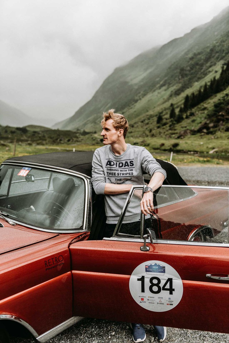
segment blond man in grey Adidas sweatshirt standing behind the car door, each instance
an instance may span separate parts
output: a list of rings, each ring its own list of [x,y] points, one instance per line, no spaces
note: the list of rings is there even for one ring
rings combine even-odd
[[[96,194],[105,194],[106,227],[104,237],[113,235],[119,215],[126,200],[126,194],[132,185],[143,185],[143,171],[151,175],[149,189],[144,193],[141,212],[150,217],[153,211],[153,191],[159,188],[166,172],[152,155],[142,146],[125,142],[128,122],[123,115],[114,113],[114,109],[103,113],[101,121],[103,147],[96,149],[92,161],[92,185]],[[125,216],[126,223],[136,223],[132,212]],[[124,222],[125,225],[125,222]],[[131,323],[134,342],[143,342],[146,333],[141,324]],[[164,341],[166,328],[154,326],[158,340]]]

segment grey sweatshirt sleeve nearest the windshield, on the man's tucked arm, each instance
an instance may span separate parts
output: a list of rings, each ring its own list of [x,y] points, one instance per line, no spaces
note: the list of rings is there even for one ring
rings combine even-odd
[[[101,164],[100,154],[96,149],[92,159],[92,186],[96,194],[104,194],[105,174]]]

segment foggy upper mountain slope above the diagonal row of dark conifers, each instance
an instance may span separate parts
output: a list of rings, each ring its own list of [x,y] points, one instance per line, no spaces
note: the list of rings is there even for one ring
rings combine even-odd
[[[92,130],[108,108],[116,108],[130,123],[152,109],[151,115],[157,115],[161,106],[206,81],[229,58],[228,35],[229,7],[209,23],[116,68],[88,103],[54,127]]]

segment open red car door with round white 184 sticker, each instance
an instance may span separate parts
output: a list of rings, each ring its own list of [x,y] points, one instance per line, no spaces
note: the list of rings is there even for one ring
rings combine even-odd
[[[122,220],[138,188],[127,197],[114,237],[70,246],[74,315],[228,333],[229,189],[195,187],[193,196],[185,197],[190,189],[183,196],[180,189],[175,199],[163,196],[151,227],[155,233],[157,224],[162,239],[156,234],[153,244],[146,241],[149,250],[142,251],[144,223],[139,237],[122,233]]]

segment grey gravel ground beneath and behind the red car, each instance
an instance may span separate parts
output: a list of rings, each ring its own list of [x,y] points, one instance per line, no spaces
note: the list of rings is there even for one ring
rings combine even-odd
[[[229,187],[229,167],[179,167],[189,184]],[[203,319],[204,320],[204,319]],[[158,342],[152,326],[145,326],[146,343]],[[13,343],[32,343],[13,340]],[[128,323],[86,318],[60,333],[48,343],[128,343],[133,342]],[[167,328],[165,343],[229,343],[229,334]]]

